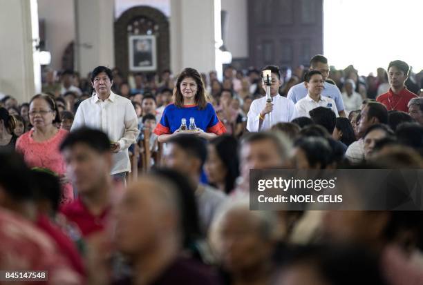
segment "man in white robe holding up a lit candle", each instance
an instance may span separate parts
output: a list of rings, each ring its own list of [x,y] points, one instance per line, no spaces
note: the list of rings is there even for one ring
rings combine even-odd
[[[272,115],[273,125],[279,122],[289,122],[298,117],[294,103],[279,95],[279,87],[282,84],[279,68],[277,66],[266,66],[263,70],[272,71],[272,85],[270,86],[272,102],[267,103],[266,97],[252,101],[247,114],[247,130],[250,132],[259,132],[272,128],[270,125],[270,114]],[[262,84],[263,88],[265,88],[263,82]]]

